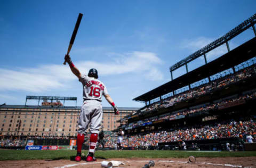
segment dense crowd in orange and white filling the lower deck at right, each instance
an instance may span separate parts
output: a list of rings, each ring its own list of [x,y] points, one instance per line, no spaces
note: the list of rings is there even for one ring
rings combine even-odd
[[[230,121],[229,123],[215,123],[212,125],[195,125],[195,127],[172,128],[164,131],[155,131],[146,134],[126,136],[123,140],[124,147],[141,147],[146,143],[157,146],[158,142],[175,142],[188,140],[204,140],[217,138],[237,137],[244,142],[256,142],[256,122]],[[111,147],[111,146],[109,146]]]

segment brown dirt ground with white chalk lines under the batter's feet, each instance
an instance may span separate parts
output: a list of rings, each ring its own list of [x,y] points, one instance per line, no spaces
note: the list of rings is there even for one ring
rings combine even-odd
[[[195,163],[188,163],[188,158],[113,158],[97,159],[95,162],[75,162],[70,160],[23,160],[23,161],[0,161],[0,167],[18,168],[18,167],[93,167],[100,168],[102,161],[121,161],[125,165],[119,165],[119,168],[138,167],[142,168],[149,161],[154,161],[154,167],[256,167],[256,157],[225,157],[225,158],[196,158]]]

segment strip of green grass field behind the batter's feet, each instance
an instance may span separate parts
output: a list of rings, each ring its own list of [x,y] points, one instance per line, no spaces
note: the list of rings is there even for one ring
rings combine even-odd
[[[87,150],[82,151],[85,155]],[[75,150],[0,150],[0,161],[6,160],[23,160],[23,159],[71,159],[74,160],[76,155]],[[108,158],[186,158],[189,156],[195,157],[246,157],[256,156],[256,152],[185,152],[173,150],[97,150],[95,157]]]

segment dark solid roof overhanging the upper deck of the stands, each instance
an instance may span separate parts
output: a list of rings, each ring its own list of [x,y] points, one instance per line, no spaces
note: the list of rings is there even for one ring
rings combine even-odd
[[[149,100],[168,94],[179,88],[188,86],[191,83],[197,82],[201,79],[210,77],[221,71],[230,69],[256,55],[256,38],[247,41],[241,46],[236,47],[232,51],[222,55],[214,61],[211,61],[193,71],[190,71],[170,82],[165,83],[147,93],[134,98],[133,100],[139,102],[148,102]]]

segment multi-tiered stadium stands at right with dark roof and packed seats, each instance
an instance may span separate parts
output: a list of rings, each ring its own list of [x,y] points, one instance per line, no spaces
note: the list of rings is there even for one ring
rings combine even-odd
[[[120,120],[124,147],[244,150],[256,142],[255,44],[254,37],[209,63],[204,52],[194,53],[204,55],[205,65],[190,72],[191,59],[174,64],[171,77],[182,65],[187,73],[134,98],[145,106]]]

